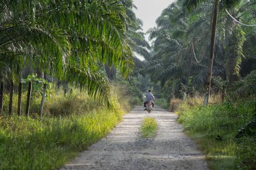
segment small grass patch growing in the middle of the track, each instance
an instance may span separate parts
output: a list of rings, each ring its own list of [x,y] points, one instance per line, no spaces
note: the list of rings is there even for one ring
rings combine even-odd
[[[140,132],[142,138],[154,138],[158,130],[158,124],[154,118],[144,118]]]

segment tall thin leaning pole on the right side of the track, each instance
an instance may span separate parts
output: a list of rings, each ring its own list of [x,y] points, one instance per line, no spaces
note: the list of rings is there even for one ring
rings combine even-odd
[[[212,80],[212,67],[214,65],[214,46],[215,46],[215,39],[216,39],[216,26],[217,26],[217,18],[218,18],[218,6],[219,1],[215,0],[214,3],[214,18],[212,21],[212,37],[211,37],[211,45],[210,45],[210,60],[209,60],[209,67],[207,73],[207,79],[205,83],[205,105],[208,104],[209,96],[210,96],[210,89],[211,89],[211,80]]]

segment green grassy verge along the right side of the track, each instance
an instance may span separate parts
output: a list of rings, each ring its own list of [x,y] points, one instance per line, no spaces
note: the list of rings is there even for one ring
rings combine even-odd
[[[236,137],[253,119],[255,101],[205,106],[195,100],[181,103],[178,122],[205,152],[210,169],[255,169],[255,136]]]

